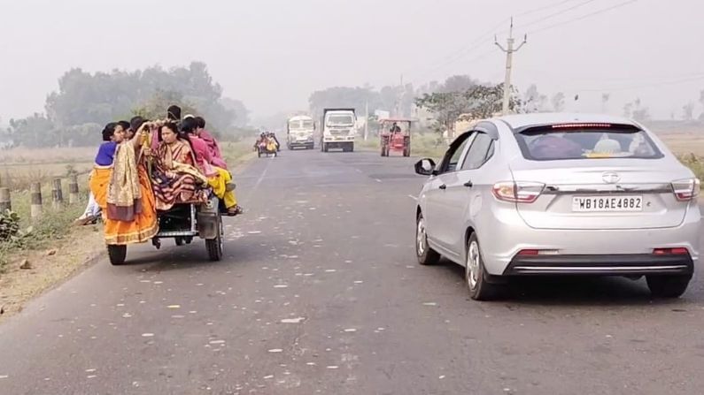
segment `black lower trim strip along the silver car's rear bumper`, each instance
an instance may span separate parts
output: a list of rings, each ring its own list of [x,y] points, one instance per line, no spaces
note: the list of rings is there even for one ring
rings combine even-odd
[[[593,275],[640,276],[647,274],[692,275],[694,262],[685,255],[532,255],[516,256],[504,276]]]

